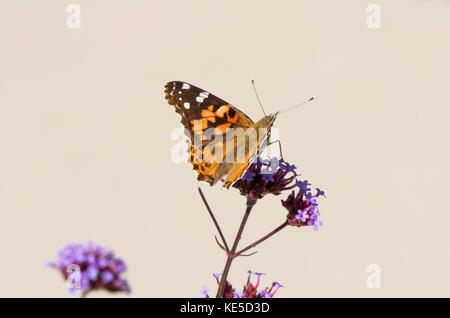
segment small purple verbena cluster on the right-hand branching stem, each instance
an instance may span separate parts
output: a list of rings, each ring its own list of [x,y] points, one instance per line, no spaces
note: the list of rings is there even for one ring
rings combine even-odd
[[[319,221],[319,205],[317,199],[325,196],[325,192],[316,188],[316,194],[311,194],[310,183],[297,181],[298,192],[295,190],[289,194],[286,200],[281,200],[281,204],[288,210],[287,221],[292,226],[312,226],[317,231],[322,221]]]

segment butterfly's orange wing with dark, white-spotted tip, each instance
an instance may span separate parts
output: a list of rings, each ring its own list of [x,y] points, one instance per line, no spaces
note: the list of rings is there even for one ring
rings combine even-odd
[[[246,130],[254,125],[253,121],[223,99],[186,82],[168,82],[165,94],[168,103],[181,115],[181,122],[187,130],[190,162],[198,174],[197,179],[213,185],[231,173],[237,175],[238,172],[233,172],[236,164],[224,162],[223,157],[227,153],[225,137],[216,140],[208,138],[205,132],[209,130],[216,135],[225,136],[229,128]],[[194,142],[197,140],[200,142]],[[223,151],[218,158],[215,153],[220,149]],[[244,171],[247,165],[242,163]],[[239,169],[241,170],[242,168]],[[228,188],[229,185],[225,187]]]

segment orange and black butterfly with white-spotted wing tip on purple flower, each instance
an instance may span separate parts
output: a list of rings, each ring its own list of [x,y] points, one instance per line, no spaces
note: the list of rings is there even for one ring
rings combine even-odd
[[[264,116],[255,123],[223,99],[179,81],[166,83],[165,98],[181,115],[189,138],[189,161],[197,172],[197,179],[210,185],[221,180],[227,189],[258,157],[263,144],[267,144],[264,142],[270,139],[270,130],[278,114]],[[230,131],[236,138],[226,138]],[[247,142],[246,136],[254,142]],[[236,154],[241,154],[242,160],[237,160]]]

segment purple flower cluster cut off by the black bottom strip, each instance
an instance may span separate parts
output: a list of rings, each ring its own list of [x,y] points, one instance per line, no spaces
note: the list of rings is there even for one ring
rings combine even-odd
[[[252,274],[254,274],[257,277],[256,283],[254,285],[251,282]],[[261,276],[263,275],[265,274],[253,273],[251,271],[248,271],[247,283],[244,285],[244,289],[240,292],[237,292],[233,288],[233,286],[231,286],[231,284],[227,282],[225,285],[224,298],[272,298],[278,291],[278,289],[283,286],[281,286],[280,283],[273,282],[271,287],[266,287],[265,289],[258,291]],[[219,278],[221,274],[214,274],[213,276],[216,279],[217,284],[219,284],[220,283]],[[201,292],[203,298],[209,298],[208,295],[209,289],[207,287],[203,287]]]

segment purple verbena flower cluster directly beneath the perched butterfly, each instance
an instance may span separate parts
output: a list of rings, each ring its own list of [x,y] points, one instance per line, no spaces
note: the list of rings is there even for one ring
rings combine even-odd
[[[266,194],[279,195],[296,186],[296,166],[283,159],[261,159],[249,165],[245,174],[233,184],[247,199],[261,199]]]

